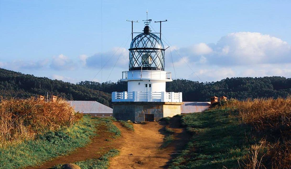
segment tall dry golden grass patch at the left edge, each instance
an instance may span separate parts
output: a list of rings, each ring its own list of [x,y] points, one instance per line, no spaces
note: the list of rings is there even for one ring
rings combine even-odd
[[[74,109],[63,99],[45,102],[37,98],[6,99],[0,103],[0,147],[34,139],[36,134],[75,121]]]

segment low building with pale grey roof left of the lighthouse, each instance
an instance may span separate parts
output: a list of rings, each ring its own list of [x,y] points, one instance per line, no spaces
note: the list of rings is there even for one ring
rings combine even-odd
[[[75,112],[90,114],[96,117],[112,116],[113,109],[96,101],[67,101]]]

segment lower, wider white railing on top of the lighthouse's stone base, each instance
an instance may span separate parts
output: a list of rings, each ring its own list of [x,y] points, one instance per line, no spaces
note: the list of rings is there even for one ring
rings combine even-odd
[[[112,92],[112,102],[182,102],[182,92]]]

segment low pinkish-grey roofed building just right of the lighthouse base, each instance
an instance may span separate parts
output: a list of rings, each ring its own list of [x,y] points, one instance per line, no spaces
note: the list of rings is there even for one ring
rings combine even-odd
[[[210,102],[183,102],[181,105],[181,114],[202,112],[211,106]]]

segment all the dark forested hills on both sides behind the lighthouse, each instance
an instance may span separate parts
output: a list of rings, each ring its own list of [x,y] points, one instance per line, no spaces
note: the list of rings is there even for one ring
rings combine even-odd
[[[72,84],[49,78],[0,69],[0,96],[28,98],[38,94],[60,95],[68,100],[96,100],[110,105],[112,91],[126,91],[127,82],[79,82]],[[217,82],[195,82],[178,79],[166,83],[167,91],[183,92],[183,101],[209,101],[211,96],[246,98],[287,97],[291,93],[291,78],[226,78]]]

